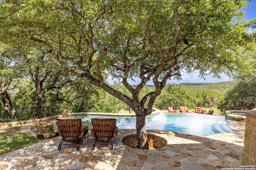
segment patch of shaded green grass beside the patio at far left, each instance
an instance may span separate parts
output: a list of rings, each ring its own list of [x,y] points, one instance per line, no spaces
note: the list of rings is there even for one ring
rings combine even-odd
[[[21,126],[10,127],[0,133],[0,155],[40,141],[34,136],[20,132]]]

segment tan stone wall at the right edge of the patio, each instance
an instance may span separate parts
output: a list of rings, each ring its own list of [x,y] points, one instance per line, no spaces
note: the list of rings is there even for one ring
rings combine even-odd
[[[256,110],[246,112],[244,165],[256,165]]]

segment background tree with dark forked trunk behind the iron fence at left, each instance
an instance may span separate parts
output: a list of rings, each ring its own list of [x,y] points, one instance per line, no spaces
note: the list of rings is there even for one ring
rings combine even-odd
[[[22,63],[24,63],[22,65],[24,68],[23,71],[27,72],[35,84],[36,111],[34,117],[40,115],[40,108],[46,102],[46,91],[56,89],[56,98],[53,100],[60,100],[58,98],[58,90],[72,81],[70,74],[64,72],[62,67],[54,59],[47,57],[49,53],[49,51],[44,49],[32,49],[22,59]]]

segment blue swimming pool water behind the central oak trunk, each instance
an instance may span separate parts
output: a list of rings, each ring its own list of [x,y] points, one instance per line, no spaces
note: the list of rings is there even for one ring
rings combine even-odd
[[[119,129],[136,129],[135,116],[76,115],[83,125],[92,127],[91,118],[116,118]],[[224,116],[203,115],[196,113],[159,113],[146,117],[146,129],[181,132],[192,135],[208,136],[216,133],[233,131]]]

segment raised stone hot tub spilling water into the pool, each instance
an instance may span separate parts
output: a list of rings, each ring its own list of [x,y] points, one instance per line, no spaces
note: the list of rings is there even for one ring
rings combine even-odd
[[[246,111],[244,110],[227,110],[225,111],[226,121],[246,121]]]

